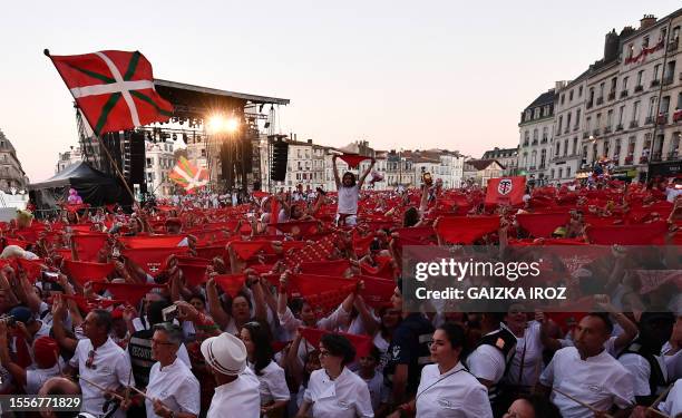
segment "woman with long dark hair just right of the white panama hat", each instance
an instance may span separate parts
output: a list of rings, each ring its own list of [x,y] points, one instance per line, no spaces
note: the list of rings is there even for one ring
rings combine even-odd
[[[249,368],[261,382],[261,414],[263,417],[279,417],[291,397],[286,387],[284,369],[272,360],[272,337],[267,325],[246,322],[241,332],[246,347]]]

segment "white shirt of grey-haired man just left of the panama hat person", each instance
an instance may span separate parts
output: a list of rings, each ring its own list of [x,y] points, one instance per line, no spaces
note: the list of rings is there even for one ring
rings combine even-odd
[[[185,362],[175,358],[173,363],[162,368],[157,361],[149,371],[147,396],[160,400],[174,412],[198,416],[201,409],[199,383]],[[157,418],[154,405],[145,400],[147,418]]]

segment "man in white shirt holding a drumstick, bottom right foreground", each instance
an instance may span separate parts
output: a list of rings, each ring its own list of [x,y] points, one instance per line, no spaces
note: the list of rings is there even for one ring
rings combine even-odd
[[[543,375],[540,389],[548,392],[564,418],[593,417],[592,409],[621,410],[616,417],[627,417],[634,405],[632,377],[604,349],[613,331],[606,314],[592,313],[581,320],[575,332],[575,347],[558,350]]]

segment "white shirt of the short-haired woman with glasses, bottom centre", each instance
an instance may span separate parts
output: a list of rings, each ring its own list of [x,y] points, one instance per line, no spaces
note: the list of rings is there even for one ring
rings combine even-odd
[[[313,418],[374,416],[367,383],[347,367],[335,380],[331,380],[324,369],[313,371],[303,400],[312,404]]]

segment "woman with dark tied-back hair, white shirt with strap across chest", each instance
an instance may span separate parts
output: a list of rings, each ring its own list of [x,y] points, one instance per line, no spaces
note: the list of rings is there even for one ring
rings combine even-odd
[[[390,415],[493,418],[488,390],[459,361],[465,342],[460,325],[446,322],[433,332],[431,360],[425,366],[417,396]]]

